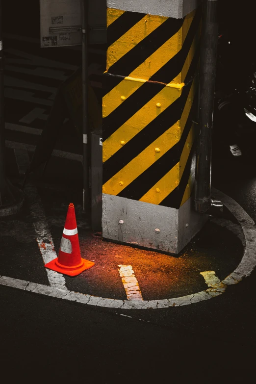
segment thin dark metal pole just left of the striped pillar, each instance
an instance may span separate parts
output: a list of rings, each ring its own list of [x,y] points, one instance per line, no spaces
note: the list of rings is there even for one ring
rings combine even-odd
[[[83,210],[89,213],[89,151],[88,151],[88,3],[81,1],[82,25],[82,131],[83,131]]]

